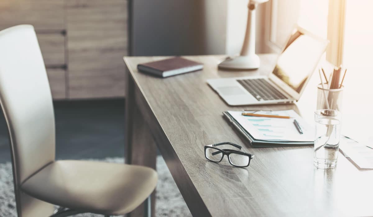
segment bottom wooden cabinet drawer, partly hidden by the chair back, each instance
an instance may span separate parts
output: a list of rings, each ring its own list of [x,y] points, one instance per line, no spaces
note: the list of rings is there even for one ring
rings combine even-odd
[[[47,68],[47,75],[53,99],[66,99],[66,70]]]

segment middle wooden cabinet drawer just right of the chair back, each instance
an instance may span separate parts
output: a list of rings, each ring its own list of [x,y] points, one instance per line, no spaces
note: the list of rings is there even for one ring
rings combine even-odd
[[[46,67],[65,66],[65,35],[38,33],[37,36]]]

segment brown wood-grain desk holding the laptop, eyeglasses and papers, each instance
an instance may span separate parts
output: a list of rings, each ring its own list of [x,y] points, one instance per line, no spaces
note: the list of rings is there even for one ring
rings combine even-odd
[[[193,216],[373,216],[373,170],[358,170],[342,154],[335,169],[317,169],[310,146],[253,148],[223,119],[228,109],[298,111],[294,104],[226,105],[207,79],[267,74],[276,57],[260,55],[260,69],[235,72],[217,69],[223,57],[189,56],[204,63],[204,70],[166,79],[137,71],[138,63],[164,57],[124,58],[127,163],[155,168],[157,144]],[[316,107],[303,105],[305,111]],[[256,157],[245,169],[232,167],[227,159],[207,161],[204,145],[222,141],[241,144]]]

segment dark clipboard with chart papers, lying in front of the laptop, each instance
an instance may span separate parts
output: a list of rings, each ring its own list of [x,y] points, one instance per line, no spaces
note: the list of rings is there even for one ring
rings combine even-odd
[[[254,147],[312,146],[314,143],[313,128],[294,110],[272,112],[273,115],[292,117],[290,119],[252,117],[241,113],[226,111],[223,115]],[[303,134],[294,126],[294,119],[300,123]]]

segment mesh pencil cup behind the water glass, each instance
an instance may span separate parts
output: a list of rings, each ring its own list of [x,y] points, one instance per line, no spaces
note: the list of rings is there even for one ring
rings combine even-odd
[[[342,95],[344,86],[339,89],[329,89],[328,84],[317,86],[317,107],[316,109],[342,110]]]

